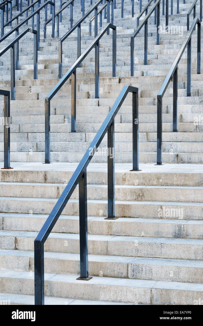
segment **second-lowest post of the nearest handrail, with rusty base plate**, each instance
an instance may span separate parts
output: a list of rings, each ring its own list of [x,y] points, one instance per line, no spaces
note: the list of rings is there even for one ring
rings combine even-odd
[[[79,181],[79,224],[80,224],[80,277],[88,281],[88,213],[87,213],[87,171]]]

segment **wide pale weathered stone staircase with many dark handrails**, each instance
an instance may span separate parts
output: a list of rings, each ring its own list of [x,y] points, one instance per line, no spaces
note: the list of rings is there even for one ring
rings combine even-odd
[[[142,171],[129,171],[132,169],[132,99],[127,96],[115,119],[115,215],[119,218],[104,220],[107,156],[98,152],[87,170],[88,259],[89,275],[93,278],[88,282],[76,280],[80,271],[77,187],[45,243],[45,304],[187,305],[202,298],[203,165],[197,163],[203,160],[203,72],[196,74],[197,31],[192,37],[192,96],[186,97],[185,53],[178,69],[179,132],[172,133],[171,83],[163,98],[165,165],[154,165],[156,96],[187,35],[186,12],[192,2],[180,4],[180,14],[169,16],[169,25],[183,26],[182,34],[161,34],[159,46],[152,14],[148,24],[148,65],[143,64],[142,29],[135,38],[135,77],[130,77],[130,36],[136,28],[139,2],[134,4],[132,18],[131,2],[126,1],[121,19],[121,2],[116,1],[117,77],[111,77],[112,36],[104,35],[100,40],[99,99],[94,98],[94,50],[81,68],[77,68],[76,133],[70,132],[71,81],[51,100],[53,163],[50,165],[42,164],[44,99],[59,81],[58,39],[51,38],[51,26],[47,26],[47,38],[43,39],[41,23],[38,80],[33,80],[33,37],[27,34],[20,40],[16,100],[11,101],[14,169],[0,170],[0,302],[34,303],[34,239],[124,85],[139,87]],[[143,1],[142,6],[146,3]],[[176,6],[174,2],[174,13]],[[85,11],[89,7],[90,1],[87,4],[85,1]],[[57,8],[59,1],[56,1]],[[75,0],[73,8],[74,22],[77,22],[82,16],[79,0]],[[81,53],[94,39],[88,36],[91,17],[82,25]],[[60,37],[70,29],[69,18],[68,9],[62,13]],[[44,22],[43,13],[40,19]],[[104,26],[106,20],[102,21]],[[160,21],[164,24],[165,16],[161,15]],[[0,43],[0,49],[8,42]],[[73,33],[63,44],[63,74],[75,62],[76,52],[77,38]],[[10,89],[9,60],[9,53],[0,57],[1,89]],[[3,116],[3,99],[0,103]],[[3,126],[0,126],[0,137],[0,161],[3,161]],[[106,147],[107,137],[100,148]]]

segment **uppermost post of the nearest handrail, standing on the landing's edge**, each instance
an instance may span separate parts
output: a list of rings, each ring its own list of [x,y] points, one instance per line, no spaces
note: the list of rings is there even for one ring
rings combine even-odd
[[[139,171],[138,93],[132,93],[132,170]]]

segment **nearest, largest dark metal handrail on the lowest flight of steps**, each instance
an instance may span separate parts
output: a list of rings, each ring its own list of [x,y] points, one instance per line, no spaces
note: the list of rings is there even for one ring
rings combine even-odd
[[[87,166],[96,153],[106,132],[108,164],[108,217],[115,217],[115,155],[114,155],[114,120],[128,93],[132,93],[132,143],[133,170],[139,170],[138,158],[138,88],[124,86],[88,150],[74,171],[70,181],[52,209],[43,227],[34,240],[34,298],[35,304],[44,304],[44,243],[60,217],[77,184],[79,184],[79,224],[80,224],[80,280],[89,280],[88,275],[88,223],[87,223]]]

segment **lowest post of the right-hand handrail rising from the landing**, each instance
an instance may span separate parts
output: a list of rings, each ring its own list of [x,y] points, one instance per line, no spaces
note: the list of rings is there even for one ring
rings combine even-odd
[[[162,165],[162,96],[157,95],[157,149],[156,164]]]

